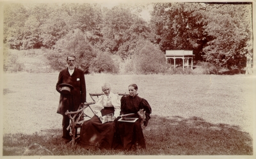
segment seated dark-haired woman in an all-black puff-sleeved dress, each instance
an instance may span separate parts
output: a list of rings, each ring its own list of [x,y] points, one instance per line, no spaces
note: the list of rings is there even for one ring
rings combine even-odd
[[[147,126],[148,120],[150,119],[151,107],[147,100],[140,98],[138,96],[138,86],[136,84],[131,84],[128,87],[129,96],[122,96],[121,98],[121,112],[120,114],[131,114],[139,118],[135,123],[129,123],[124,121],[116,122],[116,138],[115,138],[115,148],[116,149],[136,149],[136,148],[146,148],[144,135],[142,132],[142,126]],[[144,120],[141,117],[141,110],[144,112]]]

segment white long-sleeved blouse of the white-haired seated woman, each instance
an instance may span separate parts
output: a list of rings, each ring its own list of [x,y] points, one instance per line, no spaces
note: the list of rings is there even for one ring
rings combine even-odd
[[[100,117],[102,116],[100,110],[104,109],[104,107],[114,107],[115,112],[114,116],[118,117],[120,115],[120,98],[118,95],[110,92],[109,95],[102,95],[99,97],[94,106],[95,115]]]

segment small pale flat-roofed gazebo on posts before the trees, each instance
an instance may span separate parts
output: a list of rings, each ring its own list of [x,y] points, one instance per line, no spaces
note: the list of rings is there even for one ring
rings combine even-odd
[[[166,63],[168,59],[173,59],[174,61],[174,68],[176,67],[175,59],[182,59],[182,67],[184,70],[185,64],[187,64],[189,68],[189,59],[191,59],[191,69],[193,70],[193,50],[166,50],[165,59]],[[170,61],[171,63],[171,61]],[[171,63],[172,64],[172,63]]]

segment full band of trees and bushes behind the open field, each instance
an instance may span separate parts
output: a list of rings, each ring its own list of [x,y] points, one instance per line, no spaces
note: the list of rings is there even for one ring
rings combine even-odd
[[[145,10],[150,20],[140,16]],[[131,55],[128,70],[159,73],[165,50],[193,50],[195,61],[241,70],[252,67],[252,3],[7,3],[4,43],[44,49],[56,70],[73,52],[86,73],[118,72],[116,60]]]

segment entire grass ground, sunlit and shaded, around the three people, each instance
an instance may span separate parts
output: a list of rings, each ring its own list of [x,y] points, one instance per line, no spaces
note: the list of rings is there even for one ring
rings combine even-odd
[[[256,89],[250,76],[85,75],[88,93],[100,93],[102,82],[110,82],[114,93],[128,93],[127,86],[136,83],[139,96],[150,103],[152,119],[143,130],[147,149],[132,152],[63,143],[62,116],[56,114],[58,73],[3,78],[4,156],[28,155],[36,146],[47,149],[43,155],[253,155]]]

